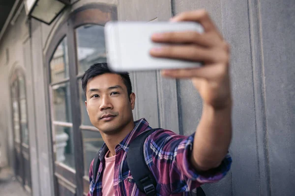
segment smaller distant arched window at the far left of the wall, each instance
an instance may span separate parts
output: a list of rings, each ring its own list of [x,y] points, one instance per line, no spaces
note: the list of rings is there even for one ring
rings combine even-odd
[[[24,188],[31,193],[29,130],[25,74],[16,68],[10,77],[12,127],[14,138],[14,172]]]

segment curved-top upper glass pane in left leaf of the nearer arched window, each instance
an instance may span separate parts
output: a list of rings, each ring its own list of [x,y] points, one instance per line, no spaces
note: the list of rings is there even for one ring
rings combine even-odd
[[[69,77],[69,62],[66,37],[60,42],[50,61],[51,83]]]

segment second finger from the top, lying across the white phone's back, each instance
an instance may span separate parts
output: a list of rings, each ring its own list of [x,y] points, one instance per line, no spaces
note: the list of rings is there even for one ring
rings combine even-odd
[[[157,43],[194,43],[204,47],[212,47],[221,42],[219,37],[213,36],[212,33],[203,34],[196,31],[155,33],[151,39]]]

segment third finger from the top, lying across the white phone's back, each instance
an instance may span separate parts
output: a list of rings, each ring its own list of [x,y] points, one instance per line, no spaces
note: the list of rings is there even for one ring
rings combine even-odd
[[[204,61],[205,63],[214,62],[215,60],[214,53],[211,50],[195,45],[153,48],[150,50],[150,55],[162,58]]]

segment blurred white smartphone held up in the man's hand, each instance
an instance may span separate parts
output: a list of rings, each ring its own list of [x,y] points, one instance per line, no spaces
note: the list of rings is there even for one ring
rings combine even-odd
[[[153,47],[166,44],[153,43],[152,34],[172,31],[202,33],[204,29],[195,22],[108,22],[105,25],[105,44],[109,68],[116,72],[129,72],[201,66],[200,62],[156,58],[149,54]]]

